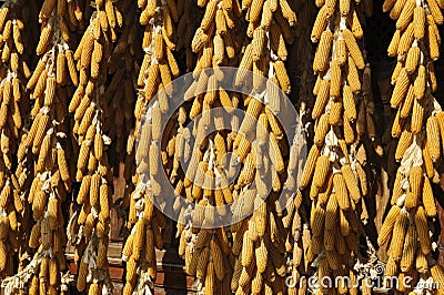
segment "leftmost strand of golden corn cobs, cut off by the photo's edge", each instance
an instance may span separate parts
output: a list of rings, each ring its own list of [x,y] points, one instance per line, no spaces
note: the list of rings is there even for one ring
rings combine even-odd
[[[23,4],[21,1],[4,1],[0,8],[0,277],[14,273],[16,255],[12,253],[19,252],[20,267],[27,263],[23,232],[28,230],[28,222],[23,213],[26,204],[19,193],[24,180],[19,180],[13,172],[29,109],[24,84],[31,75],[26,61],[24,18],[20,11]],[[30,10],[23,9],[23,12]]]

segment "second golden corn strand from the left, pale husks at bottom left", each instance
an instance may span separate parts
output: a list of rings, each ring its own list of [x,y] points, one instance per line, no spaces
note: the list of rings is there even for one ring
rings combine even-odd
[[[33,218],[32,230],[26,233],[29,235],[27,246],[36,254],[27,267],[19,269],[11,281],[3,284],[11,293],[19,289],[23,292],[29,287],[30,291],[34,291],[33,294],[57,294],[61,291],[61,272],[67,267],[62,203],[71,187],[71,173],[67,161],[71,149],[68,122],[64,121],[69,95],[65,84],[70,84],[71,80],[75,81],[77,72],[73,69],[75,78],[72,79],[67,67],[71,34],[67,24],[67,2],[46,1],[39,20],[42,23],[37,45],[40,60],[26,85],[31,91],[33,120],[18,148],[19,163],[16,170],[20,194],[22,197],[27,195],[30,203],[26,214]],[[77,22],[74,19],[73,28]],[[13,32],[16,33],[16,29]],[[20,40],[20,35],[17,40]],[[19,50],[17,48],[17,51]],[[71,62],[73,64],[72,53]],[[11,94],[20,98],[18,91],[22,87],[12,80]],[[20,281],[19,285],[16,284],[17,279]]]

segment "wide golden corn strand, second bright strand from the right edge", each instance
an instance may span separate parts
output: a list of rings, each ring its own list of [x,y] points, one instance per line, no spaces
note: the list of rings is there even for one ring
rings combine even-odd
[[[317,81],[312,118],[316,123],[300,189],[310,187],[313,201],[312,243],[306,260],[316,258],[322,293],[329,292],[321,284],[325,277],[356,279],[350,262],[359,256],[359,238],[364,234],[360,216],[366,217],[363,197],[369,187],[363,142],[374,140],[375,130],[370,68],[359,43],[364,13],[371,13],[370,2],[316,1],[321,9],[311,37],[319,42],[313,61]],[[367,285],[363,286],[363,292],[370,294]],[[354,282],[350,291],[344,284],[337,287],[340,294],[356,292]]]

